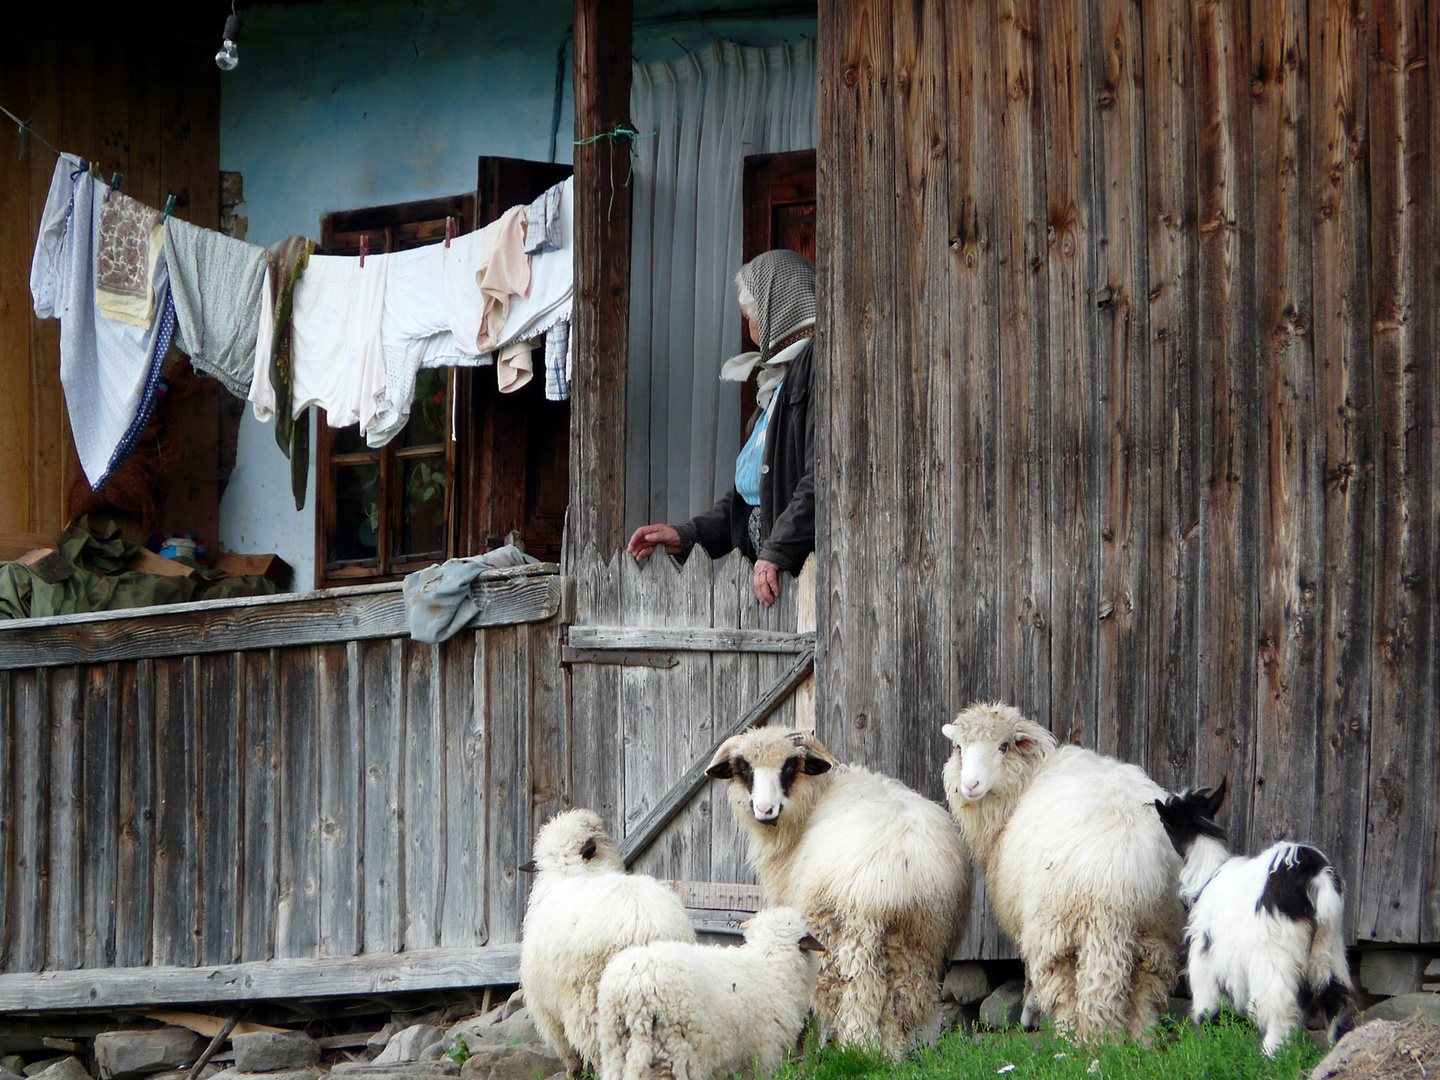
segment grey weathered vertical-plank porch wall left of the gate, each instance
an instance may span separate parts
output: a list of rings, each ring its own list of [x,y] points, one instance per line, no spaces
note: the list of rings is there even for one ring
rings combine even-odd
[[[186,655],[163,611],[84,624],[107,662],[13,667],[0,635],[0,972],[517,942],[569,798],[560,624],[423,645],[399,586],[213,606]]]

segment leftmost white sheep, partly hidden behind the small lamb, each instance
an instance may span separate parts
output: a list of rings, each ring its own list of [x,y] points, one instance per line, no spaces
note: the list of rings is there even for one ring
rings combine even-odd
[[[626,874],[589,809],[557,814],[536,835],[536,874],[520,943],[520,986],[536,1028],[570,1076],[600,1060],[595,995],[611,958],[632,945],[694,942],[680,897]]]

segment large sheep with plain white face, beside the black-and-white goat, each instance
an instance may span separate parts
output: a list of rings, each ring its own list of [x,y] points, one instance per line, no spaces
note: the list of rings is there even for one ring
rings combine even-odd
[[[1081,1038],[1142,1035],[1175,979],[1179,860],[1142,769],[1079,746],[1012,706],[973,704],[942,727],[950,812],[985,873],[999,927],[1025,960],[1025,1012]]]

